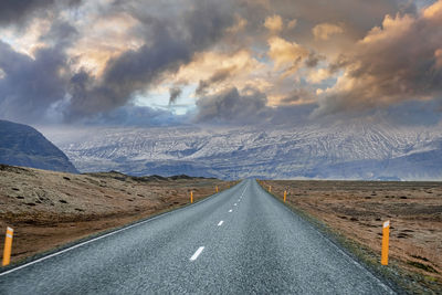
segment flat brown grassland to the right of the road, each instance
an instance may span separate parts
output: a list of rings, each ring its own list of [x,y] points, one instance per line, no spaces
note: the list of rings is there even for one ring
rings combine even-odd
[[[442,292],[442,182],[262,181],[287,204],[371,250],[379,264],[382,222],[390,220],[390,261],[413,284]],[[412,274],[420,275],[413,276]]]

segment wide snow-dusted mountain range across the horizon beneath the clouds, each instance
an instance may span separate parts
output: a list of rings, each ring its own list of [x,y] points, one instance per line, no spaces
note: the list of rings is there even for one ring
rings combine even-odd
[[[81,171],[218,178],[441,180],[442,128],[335,124],[46,130]]]

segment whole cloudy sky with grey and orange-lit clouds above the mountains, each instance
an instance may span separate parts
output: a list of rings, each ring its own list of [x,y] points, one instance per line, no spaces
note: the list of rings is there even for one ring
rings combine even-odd
[[[441,28],[442,0],[3,0],[0,118],[436,124]]]

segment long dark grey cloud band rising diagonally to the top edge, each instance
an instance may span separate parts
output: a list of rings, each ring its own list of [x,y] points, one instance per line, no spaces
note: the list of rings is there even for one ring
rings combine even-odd
[[[147,44],[112,59],[99,80],[83,77],[80,85],[74,85],[69,118],[125,105],[134,94],[148,89],[164,74],[189,63],[196,52],[213,45],[232,24],[233,17],[214,2],[197,3],[179,20],[135,14],[149,28]]]

